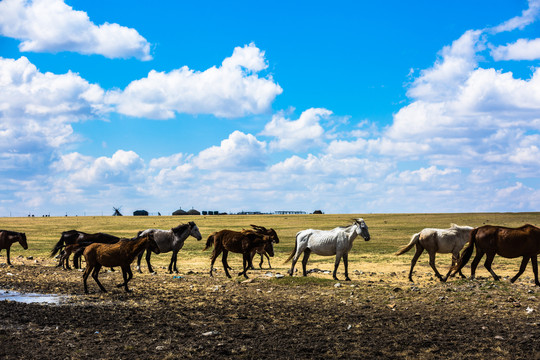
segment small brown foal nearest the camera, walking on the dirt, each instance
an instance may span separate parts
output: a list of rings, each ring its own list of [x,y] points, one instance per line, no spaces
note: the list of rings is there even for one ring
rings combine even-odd
[[[156,254],[159,254],[159,248],[154,241],[154,235],[151,233],[133,239],[120,239],[120,241],[115,244],[93,243],[88,245],[83,253],[84,258],[86,259],[86,269],[83,274],[84,292],[88,294],[86,280],[88,279],[90,272],[92,272],[92,277],[101,291],[107,292],[98,280],[99,270],[102,266],[120,266],[124,282],[116,286],[124,286],[126,292],[130,292],[127,283],[133,278],[131,263],[141,251],[146,249],[150,249]]]

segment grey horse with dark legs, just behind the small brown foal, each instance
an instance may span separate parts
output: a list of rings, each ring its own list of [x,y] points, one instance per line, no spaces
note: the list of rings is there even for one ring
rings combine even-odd
[[[181,224],[178,225],[175,228],[172,228],[171,230],[161,230],[161,229],[146,229],[144,231],[140,231],[137,236],[144,236],[148,233],[154,234],[154,241],[158,245],[159,251],[162,253],[172,251],[172,257],[171,262],[169,264],[169,273],[174,272],[178,273],[178,269],[176,268],[176,260],[178,259],[178,252],[182,247],[184,246],[184,241],[188,238],[188,236],[193,236],[197,240],[202,239],[202,235],[199,232],[199,228],[197,225],[190,221],[187,224]],[[144,252],[144,251],[143,251]],[[154,270],[152,269],[152,265],[150,265],[150,255],[152,253],[150,250],[146,250],[146,264],[148,265],[148,271],[153,273]],[[141,258],[143,256],[143,253],[141,252],[139,256],[137,257],[137,270],[142,273],[141,271]]]

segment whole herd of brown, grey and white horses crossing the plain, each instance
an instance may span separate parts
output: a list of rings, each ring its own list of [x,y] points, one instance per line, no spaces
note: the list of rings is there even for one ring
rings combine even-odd
[[[213,276],[214,262],[221,254],[225,275],[231,277],[229,273],[231,267],[227,262],[229,252],[241,253],[243,256],[243,270],[238,274],[239,276],[248,278],[247,270],[254,268],[252,260],[255,254],[261,256],[259,267],[262,268],[265,256],[270,266],[270,257],[274,256],[273,244],[279,243],[279,237],[272,228],[267,229],[257,225],[251,225],[251,227],[251,229],[242,231],[220,230],[208,236],[203,251],[213,247],[210,257],[210,276]],[[131,264],[135,258],[137,258],[136,269],[142,272],[141,259],[146,251],[148,271],[153,273],[154,270],[150,263],[151,254],[172,252],[168,270],[170,273],[177,273],[178,252],[189,236],[202,240],[199,228],[193,221],[170,230],[146,229],[139,231],[137,236],[131,239],[119,238],[101,232],[87,234],[78,230],[69,230],[62,233],[60,240],[51,251],[51,257],[59,254],[57,266],[70,269],[69,257],[71,254],[73,254],[75,268],[81,267],[81,257],[84,256],[86,261],[83,273],[85,293],[88,293],[88,276],[92,275],[100,290],[106,292],[98,278],[101,267],[105,266],[111,269],[120,267],[124,282],[117,286],[124,287],[125,291],[129,292],[128,282],[133,278]],[[304,254],[302,259],[303,276],[307,276],[306,266],[311,253],[322,256],[335,255],[333,279],[338,280],[336,273],[341,259],[343,259],[345,280],[350,281],[348,253],[353,246],[353,241],[358,236],[361,236],[365,241],[369,241],[371,238],[368,227],[362,218],[354,219],[353,223],[348,226],[332,230],[307,229],[299,231],[296,234],[295,247],[286,260],[286,262],[292,260],[291,268],[288,270],[289,275],[294,274],[294,267],[302,254]],[[24,233],[0,230],[0,250],[6,249],[8,265],[11,265],[10,248],[15,242],[19,242],[24,249],[28,248]],[[408,276],[410,281],[413,281],[414,266],[424,250],[427,250],[429,254],[429,264],[435,275],[444,282],[449,277],[455,276],[456,273],[459,273],[463,278],[465,277],[461,270],[471,258],[473,249],[476,248],[476,256],[471,264],[471,279],[474,279],[476,268],[484,255],[486,255],[484,266],[495,280],[499,280],[499,276],[491,268],[495,255],[505,258],[522,257],[519,271],[510,281],[515,282],[531,261],[535,284],[540,286],[537,259],[540,253],[540,228],[533,225],[527,224],[518,228],[484,225],[473,228],[452,224],[449,229],[426,228],[414,234],[410,242],[395,255],[402,255],[413,247],[416,247],[416,252],[411,261]],[[445,276],[442,276],[435,266],[435,254],[437,253],[452,254],[452,264]]]

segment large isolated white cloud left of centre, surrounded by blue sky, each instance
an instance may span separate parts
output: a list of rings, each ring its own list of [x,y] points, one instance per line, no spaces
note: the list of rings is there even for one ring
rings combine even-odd
[[[168,73],[152,70],[123,91],[110,92],[108,101],[122,114],[154,119],[169,119],[175,113],[225,118],[260,114],[268,111],[282,92],[271,76],[258,76],[266,67],[264,51],[250,44],[235,48],[219,68],[203,72],[187,66]]]

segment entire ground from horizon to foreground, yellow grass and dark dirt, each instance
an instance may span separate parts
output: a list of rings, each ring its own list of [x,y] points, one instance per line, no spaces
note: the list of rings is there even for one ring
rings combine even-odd
[[[350,254],[351,282],[325,272],[285,276],[283,264],[297,231],[331,229],[363,217],[371,241],[358,238]],[[180,274],[168,274],[170,254],[152,256],[157,274],[135,273],[132,293],[114,285],[119,271],[102,270],[100,293],[82,273],[55,267],[50,250],[62,231],[133,237],[146,228],[195,221],[203,235],[186,241]],[[423,255],[407,280],[413,250],[394,252],[425,227],[540,225],[539,213],[358,214],[295,216],[2,218],[0,228],[25,232],[29,249],[12,247],[14,266],[0,253],[0,358],[4,359],[540,359],[540,289],[531,267],[514,284],[519,259],[495,258],[494,282],[483,268],[477,280],[439,282]],[[220,229],[274,228],[280,243],[272,269],[227,279],[216,262],[208,275],[208,234]],[[241,256],[229,255],[235,272]],[[257,266],[258,261],[254,262]],[[333,257],[312,255],[308,270],[333,269]],[[445,272],[448,255],[438,255]],[[464,269],[469,274],[469,267]],[[234,274],[234,272],[232,272]],[[338,270],[343,279],[343,265]],[[3,301],[6,291],[57,294],[59,304]],[[8,294],[9,294],[8,293]]]

